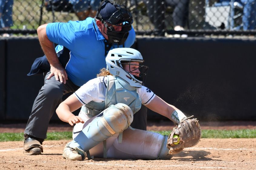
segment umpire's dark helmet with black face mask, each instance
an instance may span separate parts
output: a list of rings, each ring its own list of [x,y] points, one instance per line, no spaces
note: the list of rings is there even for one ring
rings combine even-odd
[[[107,28],[110,44],[123,45],[128,37],[133,23],[131,12],[125,5],[118,5],[113,0],[104,0],[100,3],[96,19],[100,20]],[[121,31],[116,31],[113,25],[121,26]]]

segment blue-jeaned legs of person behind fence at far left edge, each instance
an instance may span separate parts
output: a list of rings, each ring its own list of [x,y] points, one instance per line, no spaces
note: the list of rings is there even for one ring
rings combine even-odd
[[[0,29],[8,30],[13,25],[12,5],[13,0],[0,0]],[[10,35],[4,33],[2,36],[9,37]]]

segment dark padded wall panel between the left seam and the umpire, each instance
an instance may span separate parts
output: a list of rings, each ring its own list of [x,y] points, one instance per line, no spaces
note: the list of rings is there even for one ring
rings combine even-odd
[[[9,38],[6,41],[6,119],[28,120],[32,104],[43,85],[43,76],[27,76],[27,73],[43,51],[38,38]]]

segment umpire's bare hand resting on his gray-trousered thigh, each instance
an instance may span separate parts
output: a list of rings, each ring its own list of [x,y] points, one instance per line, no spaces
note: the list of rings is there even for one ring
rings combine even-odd
[[[67,75],[66,70],[62,67],[61,64],[51,65],[51,70],[50,71],[51,71],[51,73],[47,77],[47,79],[50,79],[54,75],[55,80],[66,84],[66,80],[68,79],[68,75]]]

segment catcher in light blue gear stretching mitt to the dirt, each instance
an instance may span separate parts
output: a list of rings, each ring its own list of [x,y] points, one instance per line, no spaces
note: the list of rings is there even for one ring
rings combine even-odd
[[[110,50],[107,69],[88,81],[57,108],[58,117],[73,129],[73,139],[63,151],[69,160],[170,159],[201,138],[197,119],[186,117],[143,86],[147,66],[141,53],[131,48]],[[135,114],[144,104],[152,111],[177,123],[169,136],[133,129]],[[81,107],[78,116],[73,111]]]

